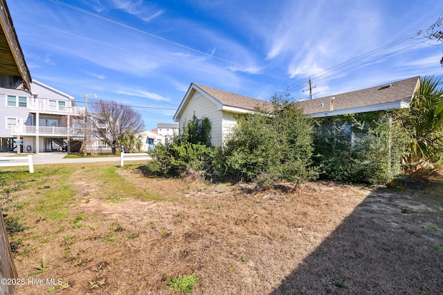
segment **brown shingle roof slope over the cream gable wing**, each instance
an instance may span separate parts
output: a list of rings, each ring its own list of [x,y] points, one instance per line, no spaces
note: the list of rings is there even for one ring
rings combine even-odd
[[[226,105],[228,107],[238,107],[240,109],[249,110],[253,110],[255,107],[271,107],[271,102],[268,101],[210,88],[201,84],[195,84],[195,86],[199,87],[201,90],[218,100],[222,105]]]

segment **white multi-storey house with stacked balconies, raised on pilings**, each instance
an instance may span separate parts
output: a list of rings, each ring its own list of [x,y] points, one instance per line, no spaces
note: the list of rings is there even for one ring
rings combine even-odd
[[[21,152],[69,150],[70,139],[82,134],[73,126],[83,108],[75,107],[72,96],[42,82],[33,80],[30,89],[0,88],[1,138],[21,143]]]

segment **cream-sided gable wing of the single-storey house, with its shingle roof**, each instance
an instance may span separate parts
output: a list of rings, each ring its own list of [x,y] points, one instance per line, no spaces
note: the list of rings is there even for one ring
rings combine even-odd
[[[193,116],[197,119],[208,118],[211,123],[211,143],[221,145],[231,127],[237,123],[237,116],[248,114],[255,107],[269,107],[269,104],[264,100],[191,83],[174,115],[174,121],[179,122],[181,129]]]

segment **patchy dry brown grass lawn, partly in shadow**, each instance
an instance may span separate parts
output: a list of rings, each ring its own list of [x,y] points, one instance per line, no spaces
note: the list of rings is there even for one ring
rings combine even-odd
[[[443,293],[442,175],[419,190],[256,192],[139,168],[0,171],[19,277],[44,280],[17,294],[171,294],[183,274],[191,294]]]

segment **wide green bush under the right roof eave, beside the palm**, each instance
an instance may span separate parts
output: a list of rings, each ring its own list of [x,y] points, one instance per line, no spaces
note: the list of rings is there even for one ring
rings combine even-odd
[[[398,175],[404,143],[401,130],[390,124],[390,115],[377,112],[353,114],[318,122],[323,131],[329,130],[328,134],[318,132],[314,141],[319,154],[316,165],[323,170],[322,177],[352,183],[386,184]],[[344,132],[346,128],[347,132]],[[354,136],[353,141],[351,136]]]

